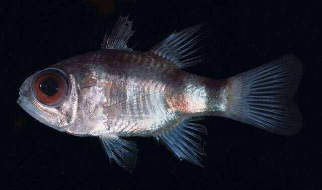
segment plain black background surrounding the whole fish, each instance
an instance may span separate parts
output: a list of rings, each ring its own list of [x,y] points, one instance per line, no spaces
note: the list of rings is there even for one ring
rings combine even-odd
[[[9,1],[0,7],[2,151],[5,189],[319,189],[321,14],[318,3],[271,1]],[[279,136],[219,117],[208,128],[200,168],[179,161],[153,138],[139,147],[130,175],[105,156],[98,138],[51,129],[16,103],[35,71],[99,49],[107,28],[129,14],[129,44],[146,51],[174,30],[206,23],[208,62],[186,71],[229,77],[287,53],[303,62],[294,101],[303,116],[296,136]],[[314,105],[314,106],[313,106]],[[319,118],[318,118],[319,117]],[[318,129],[320,130],[320,129]]]

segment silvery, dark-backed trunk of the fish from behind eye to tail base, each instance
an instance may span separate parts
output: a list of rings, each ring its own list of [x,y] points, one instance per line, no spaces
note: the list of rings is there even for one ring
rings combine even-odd
[[[154,136],[186,118],[223,114],[228,106],[226,80],[187,73],[151,53],[98,50],[52,68],[64,71],[74,98],[51,125],[73,135]]]

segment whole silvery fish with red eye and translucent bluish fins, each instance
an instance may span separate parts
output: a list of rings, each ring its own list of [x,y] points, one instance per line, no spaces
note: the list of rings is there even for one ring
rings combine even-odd
[[[132,172],[138,148],[130,136],[154,137],[180,160],[204,167],[198,120],[220,116],[280,135],[296,135],[293,102],[302,63],[292,54],[235,76],[184,71],[198,64],[202,24],[174,32],[146,52],[127,42],[132,21],[120,17],[100,50],[73,56],[29,76],[17,103],[39,122],[75,136],[99,137],[105,153]]]

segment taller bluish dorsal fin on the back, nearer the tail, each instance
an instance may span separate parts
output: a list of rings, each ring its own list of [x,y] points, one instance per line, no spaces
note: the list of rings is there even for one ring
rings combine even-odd
[[[195,56],[199,48],[194,48],[200,41],[200,34],[195,35],[203,27],[199,24],[174,32],[166,39],[152,47],[149,51],[171,60],[180,68],[189,67],[203,60],[203,55]]]

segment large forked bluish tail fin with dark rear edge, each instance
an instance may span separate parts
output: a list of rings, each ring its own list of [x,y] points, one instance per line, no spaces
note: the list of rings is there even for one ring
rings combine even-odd
[[[302,117],[292,98],[301,75],[300,60],[286,55],[229,78],[226,117],[273,133],[296,135],[302,128]]]

